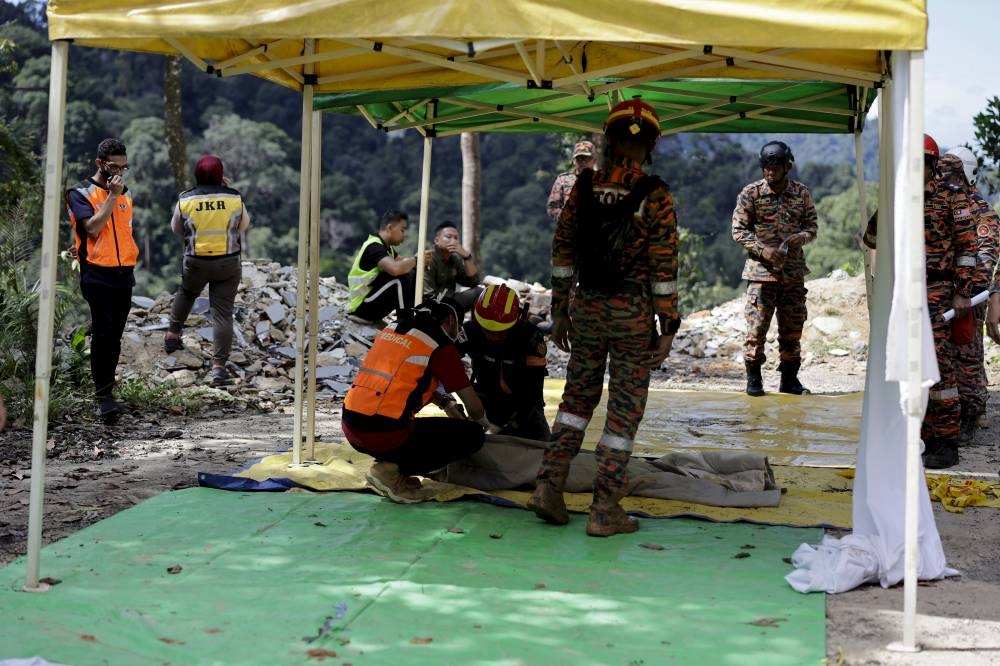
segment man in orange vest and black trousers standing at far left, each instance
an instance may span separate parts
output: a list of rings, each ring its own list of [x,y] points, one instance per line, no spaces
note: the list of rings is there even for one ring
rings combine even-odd
[[[122,412],[112,389],[132,306],[139,246],[132,235],[132,195],[125,186],[125,144],[104,139],[94,163],[97,173],[66,192],[66,208],[80,261],[80,291],[90,304],[94,396],[98,415],[111,425]]]

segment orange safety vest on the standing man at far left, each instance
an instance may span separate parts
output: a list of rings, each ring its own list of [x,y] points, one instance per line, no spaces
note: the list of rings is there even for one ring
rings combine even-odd
[[[92,180],[78,183],[76,190],[90,203],[94,215],[107,201],[109,192]],[[73,191],[70,190],[70,191]],[[118,268],[135,266],[139,259],[139,246],[132,237],[132,195],[122,192],[118,195],[115,208],[111,211],[111,219],[96,236],[91,236],[85,230],[77,229],[77,219],[69,206],[69,192],[66,193],[66,207],[69,210],[69,220],[73,225],[73,236],[76,239],[76,256],[81,266],[104,266]]]

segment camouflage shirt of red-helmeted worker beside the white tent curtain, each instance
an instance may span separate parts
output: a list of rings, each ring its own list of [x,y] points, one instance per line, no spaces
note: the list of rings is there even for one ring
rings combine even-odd
[[[976,277],[976,224],[960,188],[931,181],[924,186],[924,257],[927,280],[944,276],[960,296],[972,296]]]

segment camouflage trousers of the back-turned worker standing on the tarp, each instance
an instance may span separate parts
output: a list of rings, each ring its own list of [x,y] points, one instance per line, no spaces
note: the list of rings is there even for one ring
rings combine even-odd
[[[641,365],[654,335],[647,294],[577,292],[570,311],[572,353],[566,388],[539,480],[565,475],[601,400],[609,370],[607,420],[596,447],[595,498],[623,494],[636,430],[646,410],[650,368]]]

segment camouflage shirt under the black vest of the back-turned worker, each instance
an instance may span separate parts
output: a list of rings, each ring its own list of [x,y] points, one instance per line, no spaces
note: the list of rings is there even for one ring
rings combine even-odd
[[[593,192],[599,200],[622,199],[644,176],[639,163],[619,158],[609,170],[594,172]],[[569,309],[576,286],[577,188],[572,188],[552,239],[552,311]],[[677,309],[677,217],[670,190],[658,187],[643,201],[635,216],[635,242],[624,257],[627,279],[646,282],[653,295],[654,314],[665,320],[680,318]]]

